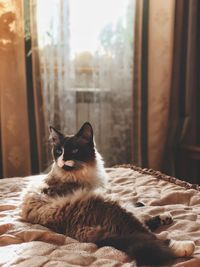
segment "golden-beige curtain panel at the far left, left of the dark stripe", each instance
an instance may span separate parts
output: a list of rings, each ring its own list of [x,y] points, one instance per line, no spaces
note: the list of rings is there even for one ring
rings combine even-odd
[[[1,176],[31,173],[23,1],[0,1]]]

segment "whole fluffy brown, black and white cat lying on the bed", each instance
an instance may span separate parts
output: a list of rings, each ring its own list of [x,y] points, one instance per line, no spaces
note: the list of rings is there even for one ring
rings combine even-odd
[[[193,253],[193,242],[159,240],[132,213],[105,197],[107,174],[89,122],[73,136],[50,127],[50,141],[52,169],[24,193],[23,220],[98,247],[113,246],[138,266],[161,266]]]

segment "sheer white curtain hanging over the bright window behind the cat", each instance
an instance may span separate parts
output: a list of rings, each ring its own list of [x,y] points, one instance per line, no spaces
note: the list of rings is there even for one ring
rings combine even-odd
[[[46,125],[71,134],[90,121],[107,165],[129,163],[135,0],[32,0],[31,10]]]

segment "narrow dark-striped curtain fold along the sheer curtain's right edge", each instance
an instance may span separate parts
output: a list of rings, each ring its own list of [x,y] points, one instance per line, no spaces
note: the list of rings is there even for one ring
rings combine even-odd
[[[133,61],[133,163],[147,166],[147,45],[148,45],[148,1],[136,1]]]

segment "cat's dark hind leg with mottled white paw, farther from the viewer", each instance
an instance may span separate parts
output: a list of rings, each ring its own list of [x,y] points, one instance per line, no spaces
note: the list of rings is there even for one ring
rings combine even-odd
[[[145,220],[145,225],[152,232],[158,229],[162,225],[170,225],[173,223],[172,215],[169,212],[162,213],[157,216],[153,216],[147,220]]]

